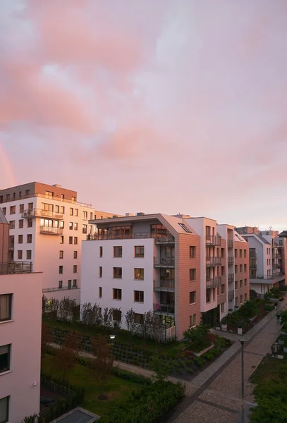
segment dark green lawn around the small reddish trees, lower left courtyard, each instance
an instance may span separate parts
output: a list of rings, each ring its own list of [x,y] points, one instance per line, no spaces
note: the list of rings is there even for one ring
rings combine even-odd
[[[53,355],[47,354],[42,358],[42,372],[56,379],[61,379],[61,374],[55,369]],[[139,391],[142,388],[140,384],[111,376],[109,381],[104,384],[104,389],[102,389],[102,384],[99,386],[97,381],[92,379],[88,367],[80,364],[77,364],[68,375],[68,381],[73,386],[85,388],[85,400],[81,407],[100,416],[104,416],[109,412],[111,404],[114,405],[125,400],[132,391]],[[107,400],[99,400],[97,398],[102,393],[108,397]]]

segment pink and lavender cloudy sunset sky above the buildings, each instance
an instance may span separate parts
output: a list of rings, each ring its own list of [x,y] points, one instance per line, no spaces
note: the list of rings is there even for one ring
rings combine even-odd
[[[1,0],[0,188],[287,229],[286,0]]]

